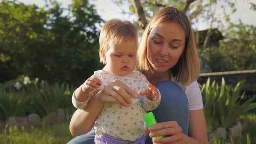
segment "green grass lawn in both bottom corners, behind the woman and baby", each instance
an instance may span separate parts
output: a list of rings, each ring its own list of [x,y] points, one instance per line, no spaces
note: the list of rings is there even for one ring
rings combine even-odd
[[[256,144],[256,114],[241,116],[248,122],[243,137],[232,140],[215,140],[212,144]],[[59,122],[41,127],[6,128],[0,131],[0,144],[66,144],[73,136],[69,132],[69,122]]]

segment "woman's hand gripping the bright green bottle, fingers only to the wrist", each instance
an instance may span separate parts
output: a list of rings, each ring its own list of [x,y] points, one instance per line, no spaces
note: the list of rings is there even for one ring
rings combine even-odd
[[[154,132],[150,132],[154,131]],[[182,140],[184,134],[182,128],[176,121],[167,121],[154,124],[144,130],[150,137],[164,136],[164,138],[155,138],[153,141],[157,144],[178,144]]]

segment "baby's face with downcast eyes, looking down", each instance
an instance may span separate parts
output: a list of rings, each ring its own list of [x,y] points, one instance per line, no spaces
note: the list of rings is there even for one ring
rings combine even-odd
[[[135,40],[113,44],[105,53],[107,68],[115,75],[128,75],[136,66],[137,45]]]

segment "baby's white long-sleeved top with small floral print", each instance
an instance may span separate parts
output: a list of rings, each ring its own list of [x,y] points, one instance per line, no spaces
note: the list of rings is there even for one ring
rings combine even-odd
[[[135,92],[146,90],[148,88],[147,84],[149,83],[147,78],[137,71],[134,71],[129,75],[118,76],[108,70],[98,70],[94,72],[92,77],[96,77],[102,81],[102,86],[98,91],[115,79],[120,80]],[[94,96],[93,94],[95,93],[91,92],[87,101],[79,102],[76,100],[74,92],[72,103],[76,108],[83,109],[86,107],[88,101]],[[135,141],[141,137],[144,134],[143,115],[147,111],[152,111],[158,107],[161,101],[161,95],[159,92],[157,101],[151,101],[146,98],[145,95],[140,95],[138,99],[139,101],[137,103],[128,108],[118,104],[105,103],[94,124],[95,133],[97,135],[105,133],[112,137],[129,141]]]

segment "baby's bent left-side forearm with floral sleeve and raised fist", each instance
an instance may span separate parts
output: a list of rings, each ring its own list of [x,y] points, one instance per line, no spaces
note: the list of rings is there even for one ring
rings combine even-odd
[[[80,85],[72,95],[72,104],[75,108],[84,109],[89,99],[96,94],[101,84],[102,82],[92,75],[92,77]]]

